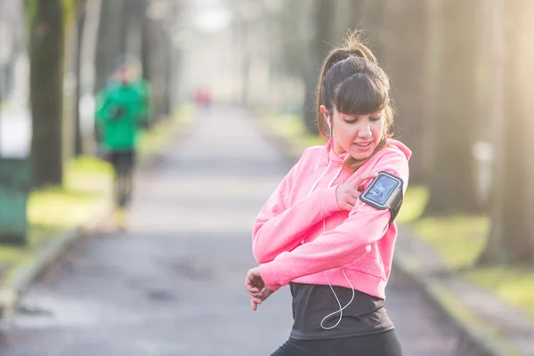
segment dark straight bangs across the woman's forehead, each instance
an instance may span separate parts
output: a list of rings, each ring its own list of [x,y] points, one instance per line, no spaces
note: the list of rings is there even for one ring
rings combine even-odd
[[[384,109],[388,101],[387,88],[360,74],[347,78],[336,93],[337,111],[345,115],[368,115]]]

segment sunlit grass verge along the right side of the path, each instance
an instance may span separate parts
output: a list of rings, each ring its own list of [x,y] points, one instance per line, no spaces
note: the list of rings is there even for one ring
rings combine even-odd
[[[264,115],[262,122],[274,134],[295,142],[298,154],[311,144],[324,142],[320,137],[306,134],[302,119],[296,115]],[[534,320],[534,268],[474,266],[486,243],[490,219],[484,215],[460,214],[424,217],[428,198],[424,186],[409,185],[397,222],[411,226],[419,239],[441,255],[450,271],[462,273],[466,279],[490,290]],[[454,306],[453,309],[458,308]]]

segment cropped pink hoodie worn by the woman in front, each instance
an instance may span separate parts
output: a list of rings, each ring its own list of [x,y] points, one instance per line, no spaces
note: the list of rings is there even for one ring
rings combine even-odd
[[[332,150],[305,150],[255,221],[253,253],[265,284],[278,290],[291,281],[328,285],[329,279],[333,286],[351,287],[345,273],[354,289],[385,299],[397,226],[388,227],[389,210],[360,199],[350,213],[341,210],[336,188],[360,174],[386,171],[401,177],[406,191],[410,156],[404,144],[390,139],[352,174]]]

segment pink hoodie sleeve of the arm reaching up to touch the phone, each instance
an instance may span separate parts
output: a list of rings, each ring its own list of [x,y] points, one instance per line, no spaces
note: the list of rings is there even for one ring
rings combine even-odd
[[[258,263],[269,263],[282,252],[293,250],[313,225],[339,211],[336,187],[315,190],[288,206],[291,189],[300,181],[302,161],[280,182],[256,218],[252,250]]]

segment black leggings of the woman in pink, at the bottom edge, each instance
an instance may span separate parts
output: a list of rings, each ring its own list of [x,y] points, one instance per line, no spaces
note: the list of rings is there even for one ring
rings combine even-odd
[[[395,330],[368,336],[353,336],[328,340],[296,340],[286,344],[271,356],[402,356]]]

